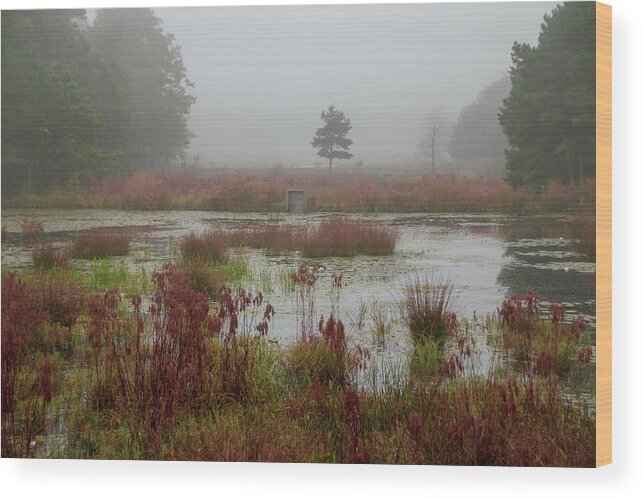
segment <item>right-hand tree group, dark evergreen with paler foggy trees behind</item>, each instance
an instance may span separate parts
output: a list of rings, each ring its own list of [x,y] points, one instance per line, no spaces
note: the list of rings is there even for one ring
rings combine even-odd
[[[432,113],[427,149],[435,152],[437,129],[451,167],[504,176],[514,186],[540,190],[595,177],[595,3],[556,6],[538,43],[514,43],[511,57],[509,77],[463,108],[452,129],[436,126]]]

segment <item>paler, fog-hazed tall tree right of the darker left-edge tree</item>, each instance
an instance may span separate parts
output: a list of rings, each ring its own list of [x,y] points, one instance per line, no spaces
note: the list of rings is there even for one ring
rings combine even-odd
[[[188,94],[181,47],[151,9],[102,9],[90,31],[93,50],[118,68],[131,104],[132,156],[138,166],[163,166],[189,145]]]

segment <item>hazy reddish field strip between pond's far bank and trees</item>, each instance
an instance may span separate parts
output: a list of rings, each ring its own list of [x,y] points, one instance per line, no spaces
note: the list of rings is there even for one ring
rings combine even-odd
[[[2,206],[278,212],[285,210],[290,189],[306,191],[308,210],[322,212],[582,212],[593,211],[596,197],[593,179],[534,190],[504,180],[413,170],[163,169],[6,195]]]

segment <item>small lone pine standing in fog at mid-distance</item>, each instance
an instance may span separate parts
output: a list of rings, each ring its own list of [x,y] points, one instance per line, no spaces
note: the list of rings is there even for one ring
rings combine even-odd
[[[351,159],[353,155],[348,148],[353,141],[346,136],[353,125],[351,120],[344,116],[344,111],[330,106],[327,111],[321,112],[321,119],[325,125],[318,128],[311,142],[317,149],[317,155],[321,158],[328,158],[328,172],[333,171],[333,158]]]

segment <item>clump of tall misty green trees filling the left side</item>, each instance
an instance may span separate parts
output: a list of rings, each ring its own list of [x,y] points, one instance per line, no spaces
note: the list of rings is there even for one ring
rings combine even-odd
[[[191,86],[151,9],[3,11],[3,193],[180,160]]]

